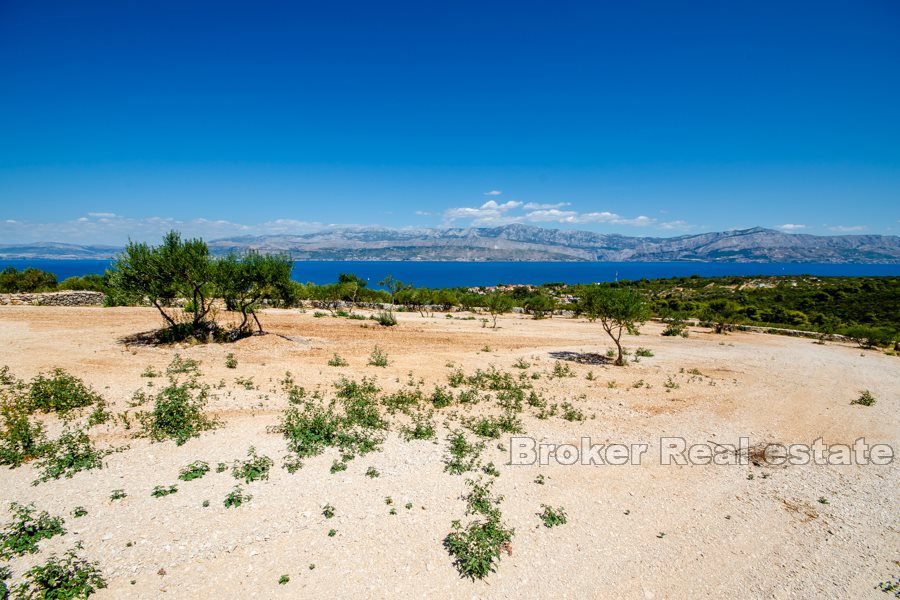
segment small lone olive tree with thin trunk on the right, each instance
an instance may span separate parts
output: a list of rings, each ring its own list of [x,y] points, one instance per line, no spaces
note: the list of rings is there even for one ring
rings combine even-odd
[[[644,298],[629,288],[591,286],[584,289],[579,304],[588,319],[600,321],[619,352],[616,364],[623,366],[622,332],[638,335],[638,327],[650,318],[650,308]]]

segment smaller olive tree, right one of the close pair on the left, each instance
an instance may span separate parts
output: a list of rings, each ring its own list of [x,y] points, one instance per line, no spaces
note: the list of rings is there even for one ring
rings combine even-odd
[[[229,254],[218,261],[216,281],[219,291],[228,309],[241,313],[240,332],[248,332],[251,316],[259,332],[263,332],[256,314],[259,301],[291,293],[292,266],[287,256],[260,254],[252,250],[240,257]]]

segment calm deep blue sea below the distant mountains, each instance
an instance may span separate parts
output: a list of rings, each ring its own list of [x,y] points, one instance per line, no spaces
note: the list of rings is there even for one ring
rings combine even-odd
[[[0,269],[35,267],[49,271],[62,281],[74,275],[103,273],[108,260],[0,260]],[[700,275],[900,275],[897,265],[832,265],[796,263],[559,263],[559,262],[386,262],[386,261],[298,261],[293,279],[316,284],[332,283],[339,273],[353,273],[377,287],[385,275],[417,287],[466,287],[500,283],[540,284],[552,281],[588,283],[615,279],[655,279]]]

